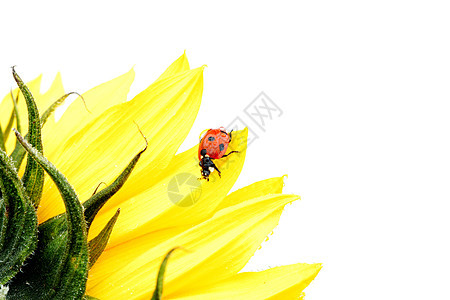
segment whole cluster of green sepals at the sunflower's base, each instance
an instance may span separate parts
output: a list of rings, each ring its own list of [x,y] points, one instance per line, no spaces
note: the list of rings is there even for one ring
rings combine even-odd
[[[0,299],[95,299],[84,295],[88,270],[105,249],[120,210],[88,242],[89,226],[100,208],[126,182],[147,145],[110,186],[81,204],[65,176],[44,157],[41,141],[41,127],[70,93],[57,99],[39,116],[30,90],[14,68],[13,76],[26,101],[29,131],[25,137],[20,133],[18,96],[11,93],[15,109],[8,126],[4,130],[0,128]],[[5,140],[14,119],[17,143],[8,155]],[[20,178],[18,169],[26,154],[25,172]],[[44,172],[58,187],[66,213],[38,225],[36,207],[42,196]],[[159,290],[153,299],[160,299],[163,273],[160,272]]]

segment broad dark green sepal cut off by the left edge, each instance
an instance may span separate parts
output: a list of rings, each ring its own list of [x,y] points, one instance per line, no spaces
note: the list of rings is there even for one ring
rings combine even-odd
[[[25,259],[37,244],[37,215],[31,205],[14,165],[0,150],[0,190],[2,193],[3,247],[0,250],[0,284],[19,272]],[[7,206],[6,206],[7,205]],[[7,207],[7,210],[6,210]],[[7,219],[7,220],[6,220]],[[4,223],[7,228],[4,230]]]

